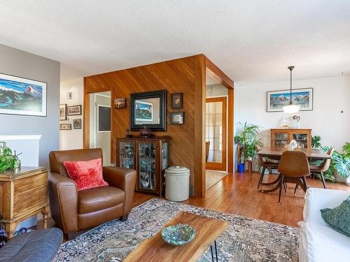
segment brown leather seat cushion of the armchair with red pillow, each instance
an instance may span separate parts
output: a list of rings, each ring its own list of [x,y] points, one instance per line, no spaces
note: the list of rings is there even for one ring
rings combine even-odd
[[[78,213],[86,214],[124,202],[125,192],[117,187],[97,187],[78,191]]]

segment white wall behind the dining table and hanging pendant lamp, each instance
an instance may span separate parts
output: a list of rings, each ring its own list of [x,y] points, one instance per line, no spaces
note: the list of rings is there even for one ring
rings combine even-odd
[[[269,145],[269,129],[280,127],[285,113],[266,112],[266,92],[288,87],[288,81],[235,85],[235,130],[238,122],[258,124],[262,142]],[[311,128],[313,136],[321,136],[323,145],[341,150],[350,142],[350,75],[293,81],[293,88],[304,87],[314,87],[314,110],[293,114],[300,116],[299,127]]]

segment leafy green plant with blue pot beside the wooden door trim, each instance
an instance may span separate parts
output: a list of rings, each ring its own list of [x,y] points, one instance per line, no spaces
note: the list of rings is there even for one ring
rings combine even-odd
[[[255,124],[244,124],[238,123],[239,129],[237,135],[235,136],[235,141],[238,143],[240,148],[240,155],[237,156],[239,161],[238,170],[239,172],[244,172],[244,163],[246,160],[253,160],[256,155],[255,146],[259,145],[262,147],[262,142],[258,140],[258,133],[260,131],[260,126]]]

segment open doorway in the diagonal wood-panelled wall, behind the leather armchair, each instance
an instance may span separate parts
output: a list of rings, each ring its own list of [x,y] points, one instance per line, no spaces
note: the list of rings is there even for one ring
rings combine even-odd
[[[90,148],[102,148],[103,165],[111,166],[111,92],[90,96]]]

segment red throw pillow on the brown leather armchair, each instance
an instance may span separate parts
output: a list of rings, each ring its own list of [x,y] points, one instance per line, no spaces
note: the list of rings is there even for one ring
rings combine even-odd
[[[100,158],[87,161],[64,161],[63,165],[69,177],[76,182],[78,191],[109,185],[102,177],[102,159]]]

